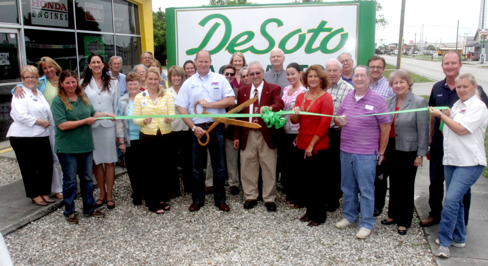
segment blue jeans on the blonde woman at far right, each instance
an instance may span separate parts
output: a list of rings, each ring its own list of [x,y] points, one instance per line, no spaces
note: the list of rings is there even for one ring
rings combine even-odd
[[[476,183],[485,166],[444,165],[446,179],[446,198],[441,212],[441,222],[437,235],[441,246],[450,246],[451,242],[465,243],[466,229],[464,221],[463,196]]]

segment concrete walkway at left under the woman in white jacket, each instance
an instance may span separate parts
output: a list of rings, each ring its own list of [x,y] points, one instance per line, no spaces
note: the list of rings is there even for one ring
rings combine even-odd
[[[10,147],[8,141],[0,143],[0,150]],[[7,151],[0,154],[0,158],[17,160],[14,151]],[[60,169],[61,170],[61,169]],[[115,166],[115,178],[123,175],[127,171],[122,167]],[[92,176],[93,184],[98,188],[95,176]],[[80,184],[78,182],[78,194],[80,193]],[[79,195],[78,195],[79,196]],[[56,202],[47,206],[38,206],[32,203],[29,198],[25,197],[25,189],[22,180],[16,180],[12,183],[0,186],[0,231],[6,235],[18,228],[35,221],[42,216],[63,207],[63,201],[57,199],[54,195],[51,198]]]

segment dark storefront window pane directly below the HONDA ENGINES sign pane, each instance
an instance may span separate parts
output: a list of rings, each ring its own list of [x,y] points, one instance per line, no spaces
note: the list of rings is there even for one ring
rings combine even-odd
[[[74,32],[26,29],[24,35],[28,64],[37,65],[37,61],[48,56],[56,61],[62,70],[76,71],[78,64]]]

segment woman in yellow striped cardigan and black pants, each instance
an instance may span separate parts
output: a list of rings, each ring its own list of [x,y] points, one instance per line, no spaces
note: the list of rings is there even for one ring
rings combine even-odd
[[[146,71],[147,90],[136,95],[132,114],[139,115],[174,115],[175,104],[171,93],[160,85],[161,73],[156,67]],[[177,173],[173,170],[174,144],[171,122],[174,118],[134,119],[141,126],[139,145],[141,169],[145,172],[141,177],[144,189],[144,201],[150,211],[162,214],[170,209],[168,182]],[[165,156],[167,155],[167,156]],[[170,165],[169,171],[161,171],[162,165]]]

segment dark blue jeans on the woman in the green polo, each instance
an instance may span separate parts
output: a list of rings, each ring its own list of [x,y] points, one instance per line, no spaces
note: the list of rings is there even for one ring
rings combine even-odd
[[[95,211],[97,204],[93,198],[92,164],[93,152],[57,153],[62,170],[62,194],[64,202],[64,216],[75,213],[75,197],[77,192],[76,174],[80,178],[81,199],[83,213]]]

